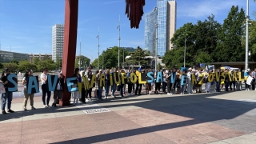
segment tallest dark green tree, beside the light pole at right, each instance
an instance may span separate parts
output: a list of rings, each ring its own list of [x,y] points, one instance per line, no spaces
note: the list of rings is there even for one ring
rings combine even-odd
[[[242,26],[246,20],[243,9],[232,6],[230,13],[218,31],[218,46],[214,52],[217,62],[243,62],[245,54],[242,47]]]

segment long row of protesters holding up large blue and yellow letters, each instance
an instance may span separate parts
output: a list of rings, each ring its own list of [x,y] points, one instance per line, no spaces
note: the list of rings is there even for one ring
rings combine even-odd
[[[93,77],[93,73],[90,70],[90,67],[88,67],[86,70],[80,71],[78,68],[74,70],[74,77],[78,82],[82,82],[82,91],[73,91],[71,93],[71,98],[74,98],[73,104],[77,105],[79,102],[86,103],[88,101],[92,100],[92,95],[94,95],[95,98],[98,98],[98,100],[103,100],[104,98],[109,97],[116,97],[115,94],[116,91],[119,91],[119,96],[124,97],[125,95],[141,95],[142,94],[142,86],[145,87],[146,94],[194,94],[194,93],[202,93],[202,83],[200,83],[200,77],[203,78],[203,83],[205,83],[205,92],[206,93],[214,93],[214,92],[220,92],[220,91],[229,91],[229,90],[242,90],[243,83],[246,85],[246,90],[255,90],[255,78],[256,78],[256,69],[254,71],[250,71],[250,69],[246,70],[246,74],[253,78],[250,84],[247,84],[245,82],[241,81],[230,81],[230,78],[228,76],[223,76],[221,74],[218,74],[220,79],[225,79],[224,81],[216,81],[214,79],[213,82],[208,81],[208,76],[210,73],[215,74],[215,72],[223,72],[225,71],[226,74],[230,73],[231,77],[233,78],[233,74],[237,74],[235,77],[239,77],[238,73],[234,73],[234,70],[194,70],[192,68],[189,68],[186,70],[175,70],[175,69],[162,69],[162,70],[152,70],[152,69],[143,69],[138,68],[138,70],[130,69],[130,70],[124,70],[124,69],[107,69],[105,71],[103,70],[97,70],[96,71],[96,79],[93,86],[90,86],[89,90],[85,90],[85,86],[83,86],[83,78],[88,78],[89,83],[91,83]],[[237,70],[239,72],[240,70]],[[118,72],[118,77],[121,79],[121,75],[126,73],[127,77],[127,83],[126,84],[116,84],[113,82],[113,85],[110,86],[110,74]],[[147,73],[153,72],[154,73],[154,82],[146,82],[146,84],[141,84],[138,81],[133,83],[131,82],[130,75],[131,73],[134,73],[137,77],[139,73]],[[162,73],[162,82],[156,81],[158,77],[158,73]],[[175,78],[173,79],[173,82],[171,82],[171,75],[175,73]],[[7,112],[14,113],[14,110],[11,110],[11,101],[13,98],[13,92],[8,91],[8,80],[7,75],[10,74],[10,69],[6,69],[2,73],[1,82],[2,85],[5,87],[5,93],[2,94],[2,114],[6,114],[6,104],[7,104]],[[104,85],[100,85],[99,82],[101,81],[101,74],[105,74],[104,79]],[[192,83],[192,74],[195,74],[196,80],[198,81],[196,84]],[[48,75],[48,69],[44,68],[42,70],[42,74],[40,75],[41,79],[41,88],[42,88],[42,104],[43,107],[48,108],[50,107],[50,96],[51,91],[48,90],[46,82],[47,82],[47,75]],[[186,75],[186,82],[182,81],[182,76]],[[203,77],[202,77],[203,75]],[[23,110],[27,110],[26,105],[28,99],[30,99],[30,106],[31,110],[36,110],[34,108],[34,94],[27,94],[26,90],[26,82],[28,82],[28,79],[30,76],[33,76],[32,70],[27,70],[26,74],[24,75],[24,78],[22,79],[22,85],[24,85],[24,102],[23,102]],[[126,86],[128,86],[128,90],[126,91]],[[58,100],[62,98],[63,93],[63,87],[64,87],[64,79],[62,73],[58,74],[58,81],[57,81],[57,89],[54,90],[54,102],[52,103],[52,106],[56,106],[58,103]],[[74,87],[76,87],[76,84],[74,84]],[[94,94],[92,94],[94,88]],[[103,93],[103,89],[105,90]],[[127,94],[126,94],[127,92]],[[47,95],[47,98],[46,98]],[[102,98],[104,97],[104,98]]]

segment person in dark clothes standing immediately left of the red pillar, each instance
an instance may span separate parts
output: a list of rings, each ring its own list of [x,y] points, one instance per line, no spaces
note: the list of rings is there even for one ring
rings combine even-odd
[[[63,74],[62,73],[58,73],[57,88],[54,91],[54,102],[53,102],[52,106],[56,107],[57,101],[62,98],[63,87],[64,87]]]

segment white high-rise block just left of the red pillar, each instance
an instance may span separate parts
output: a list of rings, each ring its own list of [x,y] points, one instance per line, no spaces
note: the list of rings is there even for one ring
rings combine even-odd
[[[64,42],[64,25],[54,25],[52,27],[52,59],[62,59],[63,42]]]

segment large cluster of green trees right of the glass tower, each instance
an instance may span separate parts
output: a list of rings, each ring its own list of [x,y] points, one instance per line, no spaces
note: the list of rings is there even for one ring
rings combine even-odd
[[[184,62],[184,47],[186,39],[186,66],[193,66],[194,62],[238,62],[244,61],[245,54],[242,46],[245,22],[244,10],[232,6],[223,25],[209,16],[204,22],[196,24],[186,23],[176,30],[171,43],[174,49],[167,51],[162,62],[166,67],[180,67]],[[255,28],[251,28],[255,30]],[[253,47],[252,33],[251,46]],[[256,51],[256,50],[255,50]],[[256,58],[256,56],[254,57]]]

